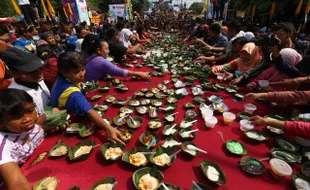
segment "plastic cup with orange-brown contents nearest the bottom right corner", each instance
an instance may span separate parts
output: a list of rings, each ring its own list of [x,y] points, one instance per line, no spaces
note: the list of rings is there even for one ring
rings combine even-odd
[[[269,161],[269,164],[271,167],[273,177],[275,177],[276,179],[281,179],[285,176],[290,176],[293,173],[291,166],[278,158],[272,158]]]

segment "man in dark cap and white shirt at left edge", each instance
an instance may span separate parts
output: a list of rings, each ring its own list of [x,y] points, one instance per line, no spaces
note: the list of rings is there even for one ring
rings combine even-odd
[[[15,47],[9,47],[1,54],[13,76],[9,88],[26,91],[34,101],[39,115],[38,124],[45,119],[44,107],[50,104],[50,91],[43,81],[42,66],[44,62],[37,56]]]

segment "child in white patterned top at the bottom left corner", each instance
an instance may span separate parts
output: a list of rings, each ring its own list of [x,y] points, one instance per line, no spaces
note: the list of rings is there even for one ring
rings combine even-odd
[[[43,141],[32,97],[23,90],[0,91],[0,175],[7,189],[31,189],[19,169]]]

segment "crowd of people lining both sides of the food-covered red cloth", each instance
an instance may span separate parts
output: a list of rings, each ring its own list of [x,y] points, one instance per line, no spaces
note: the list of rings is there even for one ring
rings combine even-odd
[[[86,22],[40,26],[0,24],[0,175],[8,189],[31,189],[18,164],[42,142],[42,129],[49,132],[44,126],[45,106],[86,116],[106,130],[111,141],[124,143],[122,134],[89,104],[80,83],[100,81],[107,75],[151,80],[146,72],[114,63],[122,64],[125,57],[145,53],[144,44],[157,40],[163,32],[173,32],[186,43],[207,48],[208,55],[196,61],[211,65],[214,74],[231,84],[246,85],[251,93],[245,99],[263,99],[307,112],[309,36],[307,28],[304,34],[296,35],[292,23],[261,30],[238,20],[215,22],[193,19],[189,14],[160,13],[132,22],[105,20],[98,26]],[[262,88],[261,80],[268,80],[269,85]],[[264,92],[256,93],[258,89]],[[310,137],[307,122],[260,116],[250,121]]]

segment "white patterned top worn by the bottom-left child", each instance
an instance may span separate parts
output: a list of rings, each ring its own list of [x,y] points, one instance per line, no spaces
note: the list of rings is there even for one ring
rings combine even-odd
[[[25,163],[43,139],[44,131],[39,125],[20,134],[0,132],[0,165],[8,162]]]

